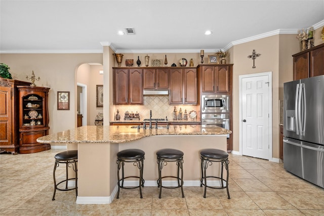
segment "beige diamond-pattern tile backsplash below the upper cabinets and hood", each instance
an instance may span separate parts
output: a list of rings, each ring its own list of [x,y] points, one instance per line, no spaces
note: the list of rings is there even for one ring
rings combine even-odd
[[[150,110],[152,110],[152,118],[166,118],[172,120],[172,113],[174,110],[174,106],[176,106],[177,111],[181,108],[182,113],[187,110],[189,114],[190,111],[194,110],[197,112],[197,117],[199,118],[200,107],[199,105],[169,105],[169,96],[166,95],[147,95],[144,96],[144,105],[114,105],[111,107],[111,111],[113,111],[113,115],[117,113],[117,110],[120,114],[120,120],[124,119],[125,112],[138,112],[140,114],[140,119],[150,117]],[[114,116],[112,116],[111,120],[115,120]]]

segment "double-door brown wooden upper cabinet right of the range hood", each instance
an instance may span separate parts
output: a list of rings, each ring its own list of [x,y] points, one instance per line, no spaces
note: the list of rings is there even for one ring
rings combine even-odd
[[[170,69],[170,104],[197,104],[197,70]]]

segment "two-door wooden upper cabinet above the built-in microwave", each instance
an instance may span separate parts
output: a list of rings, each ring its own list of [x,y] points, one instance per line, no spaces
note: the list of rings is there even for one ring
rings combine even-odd
[[[231,65],[203,65],[199,67],[201,93],[229,94],[231,92]]]

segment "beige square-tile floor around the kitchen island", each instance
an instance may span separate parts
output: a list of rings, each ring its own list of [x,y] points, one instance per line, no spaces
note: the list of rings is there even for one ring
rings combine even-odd
[[[34,154],[0,155],[0,215],[324,215],[324,189],[283,168],[282,163],[229,155],[231,199],[226,190],[200,187],[162,191],[121,190],[111,204],[75,204],[75,192],[53,196],[52,149]],[[185,165],[185,163],[184,163]],[[63,175],[63,172],[62,172]]]

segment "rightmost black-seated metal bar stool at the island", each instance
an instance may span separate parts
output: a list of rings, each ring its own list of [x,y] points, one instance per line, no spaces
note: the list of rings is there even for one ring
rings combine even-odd
[[[228,191],[228,154],[227,152],[219,149],[203,149],[200,151],[200,159],[201,159],[201,179],[200,179],[200,187],[205,186],[204,190],[204,198],[206,198],[206,189],[213,188],[213,189],[224,189],[227,190],[227,198],[230,199],[229,191]],[[214,176],[206,176],[206,169],[209,165],[212,165],[213,162],[220,162],[221,163],[221,177],[214,177]],[[226,169],[226,180],[223,178],[223,167],[225,166]],[[221,186],[208,186],[207,179],[208,178],[215,178],[221,181]],[[224,186],[224,182],[226,185]]]

